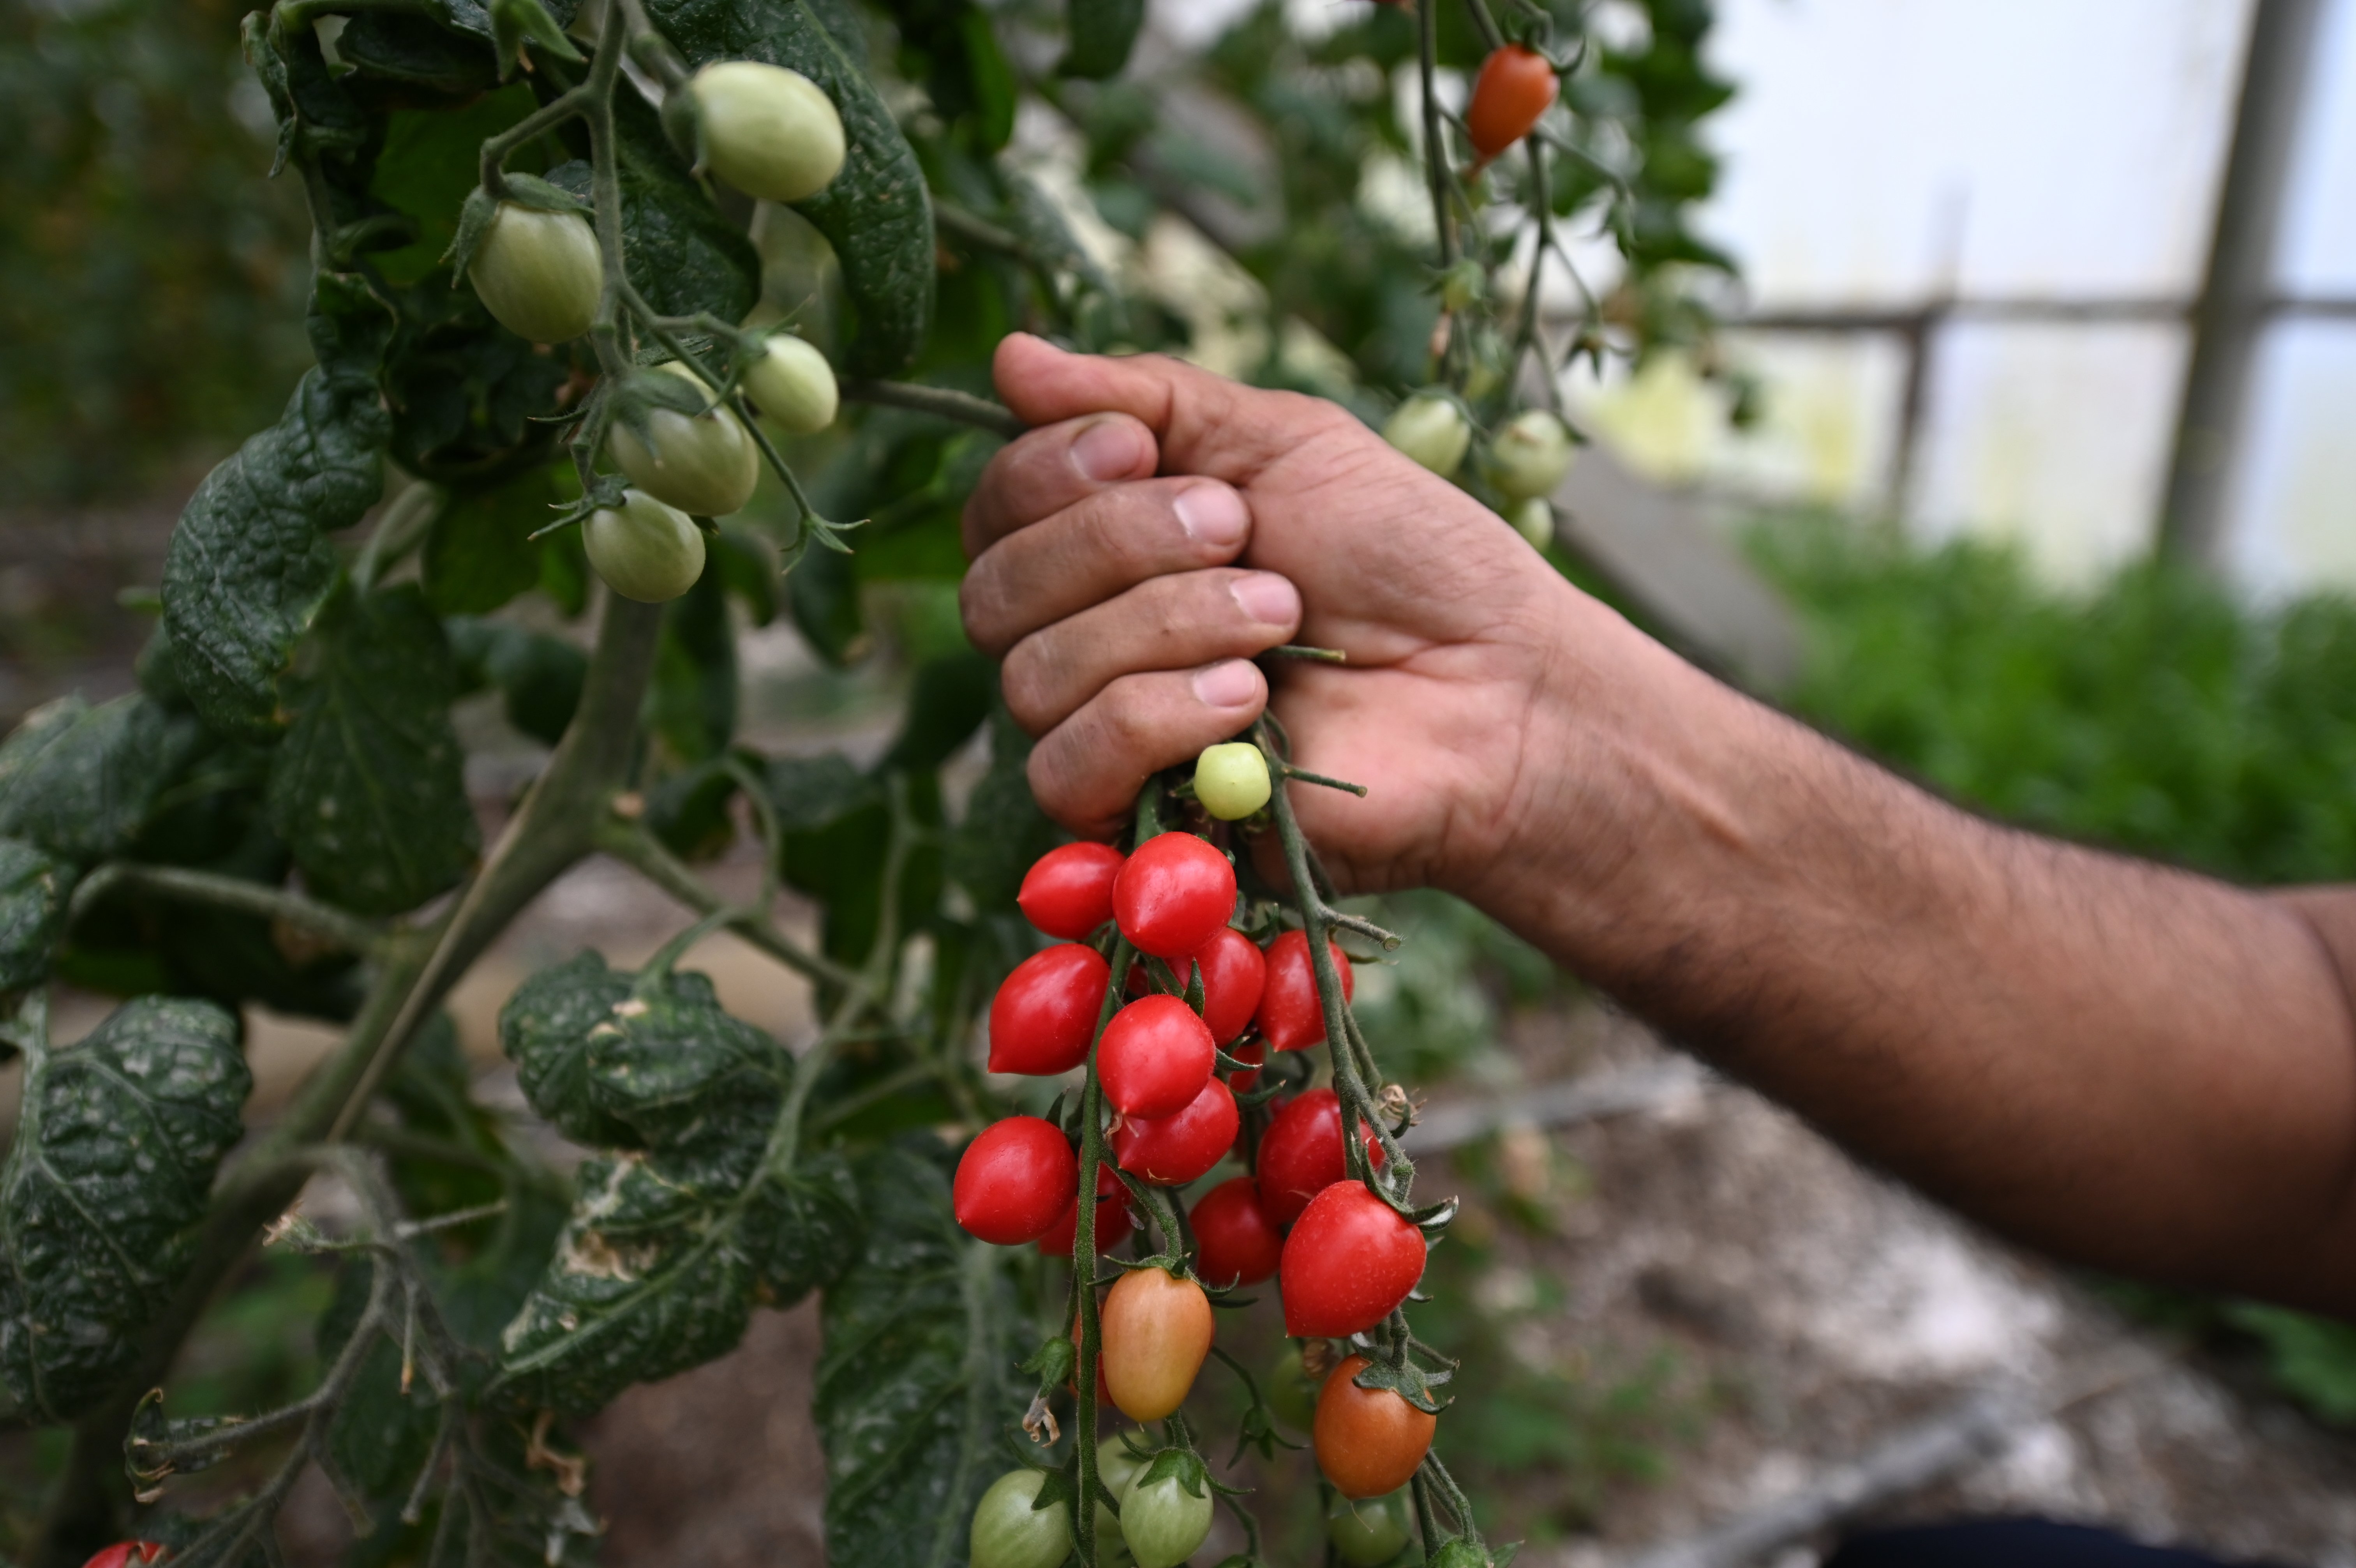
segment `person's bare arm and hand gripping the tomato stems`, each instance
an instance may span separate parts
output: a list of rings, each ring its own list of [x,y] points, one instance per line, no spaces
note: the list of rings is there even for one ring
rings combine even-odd
[[[1331,403],[1034,337],[964,611],[1110,837],[1263,705],[1345,891],[1440,887],[2059,1257],[2356,1313],[2356,889],[1974,818],[1694,670]],[[1249,663],[1284,641],[1343,667]],[[1277,865],[1270,858],[1270,870]]]

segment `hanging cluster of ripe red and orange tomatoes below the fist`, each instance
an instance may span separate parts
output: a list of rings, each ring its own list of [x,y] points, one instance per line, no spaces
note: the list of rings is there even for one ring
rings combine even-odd
[[[1025,877],[1020,905],[1034,927],[1063,941],[1027,957],[999,988],[990,1007],[990,1068],[1060,1075],[1086,1063],[1093,1047],[1114,1113],[1112,1160],[1138,1181],[1178,1188],[1206,1177],[1230,1151],[1246,1158],[1251,1174],[1220,1181],[1187,1210],[1192,1273],[1211,1287],[1279,1276],[1289,1335],[1345,1339],[1383,1323],[1416,1287],[1423,1231],[1348,1179],[1333,1089],[1277,1101],[1256,1148],[1239,1146],[1235,1089],[1253,1087],[1268,1052],[1322,1042],[1326,1023],[1308,938],[1284,931],[1256,946],[1230,924],[1235,894],[1235,868],[1192,832],[1164,832],[1129,856],[1105,844],[1048,851]],[[1131,948],[1164,960],[1180,986],[1199,981],[1202,1007],[1145,986],[1138,962],[1121,1007],[1098,1035],[1112,964],[1091,938],[1107,922]],[[1348,997],[1350,964],[1341,948],[1331,953]],[[1220,1052],[1244,1066],[1223,1075]],[[1383,1153],[1371,1129],[1362,1125],[1359,1139],[1378,1167]],[[1096,1191],[1096,1243],[1110,1250],[1136,1217],[1110,1165],[1098,1172]],[[954,1203],[959,1224],[982,1240],[1070,1254],[1079,1219],[1072,1139],[1034,1115],[992,1125],[957,1167]],[[1131,1269],[1105,1297],[1100,1323],[1105,1396],[1140,1422],[1178,1410],[1211,1346],[1202,1285],[1164,1269]],[[1364,1363],[1343,1365],[1355,1375]],[[1381,1464],[1364,1460],[1364,1441],[1338,1436],[1359,1434],[1369,1419],[1407,1438],[1378,1445]],[[1319,1396],[1315,1431],[1329,1478],[1350,1497],[1374,1497],[1414,1474],[1432,1417],[1397,1394],[1357,1389],[1336,1375]]]

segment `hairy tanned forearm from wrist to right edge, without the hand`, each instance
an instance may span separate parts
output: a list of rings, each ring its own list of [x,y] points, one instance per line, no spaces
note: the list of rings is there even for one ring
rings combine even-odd
[[[2356,1306],[2356,1037],[2311,908],[1981,823],[1642,639],[1564,667],[1531,773],[1576,783],[1480,903],[2014,1236]]]

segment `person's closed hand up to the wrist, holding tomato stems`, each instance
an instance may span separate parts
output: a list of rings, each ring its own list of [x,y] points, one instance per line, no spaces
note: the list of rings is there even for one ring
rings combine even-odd
[[[1114,832],[1270,703],[1251,655],[1308,641],[1350,663],[1282,660],[1272,705],[1301,766],[1369,788],[1293,792],[1345,889],[1465,891],[1546,818],[1567,648],[1633,632],[1494,512],[1333,403],[1178,361],[1015,335],[997,384],[1037,429],[966,505],[964,613],[1051,816]]]

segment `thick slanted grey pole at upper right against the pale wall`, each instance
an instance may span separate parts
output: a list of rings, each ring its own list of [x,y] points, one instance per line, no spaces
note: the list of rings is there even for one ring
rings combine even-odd
[[[2321,14],[2323,0],[2257,0],[2250,17],[2233,146],[2193,304],[2191,363],[2160,505],[2160,552],[2193,566],[2215,566],[2224,547],[2226,483],[2274,290],[2274,241]]]

